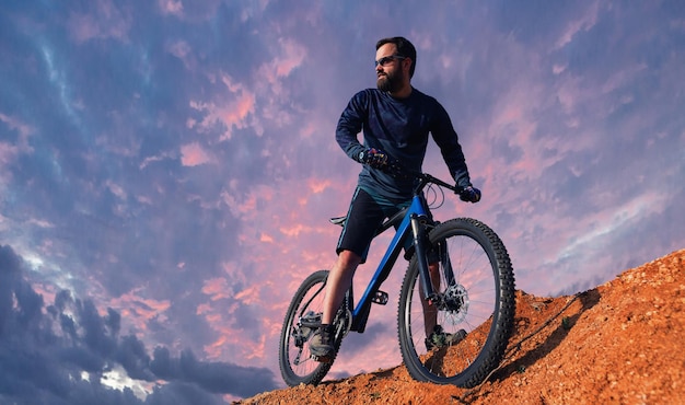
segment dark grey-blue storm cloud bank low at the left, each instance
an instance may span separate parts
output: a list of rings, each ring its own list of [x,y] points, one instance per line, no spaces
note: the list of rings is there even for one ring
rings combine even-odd
[[[198,360],[193,351],[173,357],[156,347],[150,358],[133,335],[120,336],[121,315],[100,315],[93,301],[62,290],[45,306],[25,280],[23,259],[0,245],[0,400],[10,403],[137,404],[130,389],[113,390],[100,377],[117,364],[141,382],[165,380],[146,403],[216,404],[218,394],[249,396],[276,387],[264,368]],[[88,372],[84,379],[82,372]]]

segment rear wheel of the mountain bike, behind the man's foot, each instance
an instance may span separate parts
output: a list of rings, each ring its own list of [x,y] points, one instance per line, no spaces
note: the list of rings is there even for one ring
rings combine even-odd
[[[290,386],[318,384],[333,362],[315,361],[310,354],[310,339],[321,325],[327,270],[309,276],[290,302],[280,334],[278,360],[283,381]],[[336,354],[339,343],[335,345]]]

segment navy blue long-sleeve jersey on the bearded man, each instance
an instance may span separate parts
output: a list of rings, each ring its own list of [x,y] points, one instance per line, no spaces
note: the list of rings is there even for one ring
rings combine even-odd
[[[363,130],[363,146],[357,138]],[[407,99],[394,99],[378,89],[355,94],[342,112],[336,129],[336,140],[348,157],[358,161],[367,148],[381,149],[399,160],[410,172],[420,172],[428,147],[428,134],[440,148],[456,185],[471,185],[462,147],[450,116],[433,97],[413,88]],[[411,180],[399,180],[364,165],[359,186],[386,198],[410,198]]]

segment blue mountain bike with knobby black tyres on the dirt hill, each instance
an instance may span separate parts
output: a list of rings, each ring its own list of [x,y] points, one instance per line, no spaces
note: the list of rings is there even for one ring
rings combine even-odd
[[[410,205],[385,220],[376,232],[378,235],[396,228],[361,299],[355,302],[350,288],[334,317],[333,359],[350,331],[364,332],[371,304],[388,302],[388,294],[380,288],[404,248],[409,267],[397,311],[403,361],[418,381],[473,387],[499,366],[513,328],[511,261],[502,241],[485,223],[471,218],[434,221],[425,190],[433,190],[436,196],[440,192],[442,204],[443,188],[455,194],[460,189],[430,174],[416,177]],[[344,220],[332,219],[338,224]],[[431,277],[429,266],[438,267],[439,282],[434,271]],[[288,308],[280,335],[279,366],[290,386],[318,384],[333,364],[316,361],[309,351],[309,340],[321,325],[327,276],[328,270],[310,275]],[[442,345],[429,340],[432,335],[426,331],[427,308],[432,311],[430,316],[437,312],[437,323],[444,332],[441,336],[449,337]]]

